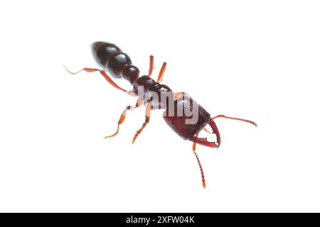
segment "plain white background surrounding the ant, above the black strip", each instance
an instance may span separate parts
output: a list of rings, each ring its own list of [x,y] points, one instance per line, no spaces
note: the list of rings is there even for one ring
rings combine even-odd
[[[1,1],[0,211],[320,211],[319,1]],[[127,52],[217,119],[191,142],[99,74],[90,43]],[[129,89],[129,83],[117,80]]]

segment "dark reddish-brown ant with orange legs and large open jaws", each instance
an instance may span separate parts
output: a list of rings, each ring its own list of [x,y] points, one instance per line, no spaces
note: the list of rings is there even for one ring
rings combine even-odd
[[[139,77],[139,69],[136,66],[132,65],[132,60],[130,59],[130,57],[126,53],[122,52],[122,50],[120,50],[117,45],[105,42],[95,42],[91,45],[91,49],[96,62],[104,70],[85,67],[78,72],[70,72],[66,67],[65,69],[70,74],[78,74],[82,71],[100,72],[100,74],[102,74],[107,82],[109,82],[114,88],[119,89],[122,92],[126,92],[129,95],[138,97],[135,106],[125,107],[117,123],[117,131],[112,135],[106,136],[105,138],[112,138],[119,133],[119,126],[124,122],[128,110],[133,111],[134,109],[137,109],[139,106],[144,104],[146,106],[145,121],[142,124],[142,127],[139,128],[139,130],[134,134],[134,137],[132,139],[132,143],[134,143],[138,135],[142,133],[146,125],[149,123],[151,110],[164,109],[164,120],[172,128],[172,130],[174,130],[184,140],[193,141],[193,153],[194,155],[196,155],[196,160],[200,167],[203,188],[206,188],[206,181],[203,174],[201,162],[196,153],[196,143],[200,145],[206,145],[210,148],[219,148],[221,144],[220,133],[213,120],[215,118],[228,118],[238,121],[245,121],[247,123],[251,123],[254,126],[257,126],[257,123],[242,118],[234,118],[225,115],[211,117],[208,111],[203,109],[202,106],[198,105],[196,101],[191,98],[191,96],[186,94],[186,92],[173,93],[168,86],[159,83],[162,81],[164,70],[166,70],[166,62],[163,63],[161,70],[159,71],[158,79],[156,79],[156,81],[152,79],[151,74],[154,70],[153,55],[150,55],[148,75]],[[114,78],[127,79],[127,81],[132,84],[133,89],[128,92],[122,87],[119,87],[119,85],[117,85],[111,79],[106,71]],[[158,99],[154,99],[154,96],[157,96]],[[161,99],[159,99],[159,96],[161,96]],[[171,104],[173,104],[171,113],[169,108],[170,102]],[[180,114],[178,114],[178,112]],[[194,121],[193,123],[187,123],[187,120],[190,120],[190,118],[193,116],[197,116],[196,121]],[[207,124],[212,129],[212,132],[208,131],[208,129],[205,128]],[[210,142],[207,140],[207,138],[198,138],[199,132],[203,129],[208,133],[214,133],[216,136],[216,141]]]

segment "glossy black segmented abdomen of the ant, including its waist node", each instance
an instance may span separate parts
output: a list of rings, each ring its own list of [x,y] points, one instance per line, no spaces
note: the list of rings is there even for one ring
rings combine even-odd
[[[97,63],[107,70],[112,77],[123,77],[131,84],[139,77],[139,70],[132,65],[130,57],[112,43],[93,43],[92,54]]]

